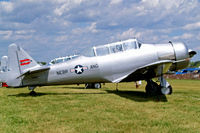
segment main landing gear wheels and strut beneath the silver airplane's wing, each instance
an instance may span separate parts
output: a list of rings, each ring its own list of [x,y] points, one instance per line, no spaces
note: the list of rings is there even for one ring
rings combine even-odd
[[[170,95],[172,94],[171,85],[163,78],[163,76],[158,78],[160,85],[154,82],[152,79],[146,80],[146,94],[147,96],[157,96],[157,95]]]

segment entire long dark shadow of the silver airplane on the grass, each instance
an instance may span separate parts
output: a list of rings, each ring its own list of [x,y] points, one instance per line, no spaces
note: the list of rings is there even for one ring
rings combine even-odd
[[[19,93],[15,95],[8,95],[8,96],[15,96],[15,97],[39,97],[39,96],[45,96],[45,95],[106,95],[106,94],[115,94],[120,97],[130,99],[136,102],[148,102],[148,101],[154,101],[154,102],[167,102],[167,98],[165,95],[159,95],[159,96],[153,96],[153,97],[147,97],[145,92],[141,91],[116,91],[116,90],[105,90],[105,92],[97,92],[97,93],[88,93],[88,92],[81,92],[81,93],[45,93],[45,92],[36,92],[35,94],[30,93]]]

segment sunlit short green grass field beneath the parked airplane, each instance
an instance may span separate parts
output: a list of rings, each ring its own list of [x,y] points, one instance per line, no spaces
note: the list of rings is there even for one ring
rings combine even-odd
[[[0,132],[200,132],[200,81],[169,80],[174,93],[146,98],[145,83],[102,89],[51,86],[0,88]]]

